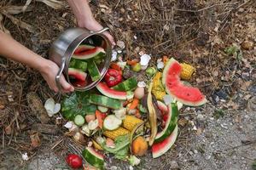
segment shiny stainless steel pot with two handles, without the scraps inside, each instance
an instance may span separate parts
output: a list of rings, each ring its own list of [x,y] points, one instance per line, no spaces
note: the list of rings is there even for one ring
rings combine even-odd
[[[111,42],[109,42],[108,37],[106,37],[102,32],[107,31],[108,28],[103,28],[101,31],[87,31],[82,28],[70,28],[67,31],[64,31],[60,37],[58,37],[55,42],[53,42],[52,47],[49,50],[49,59],[55,62],[60,67],[58,71],[55,81],[56,85],[61,91],[61,83],[60,77],[63,73],[64,77],[66,77],[67,82],[70,82],[68,77],[68,66],[70,63],[70,59],[72,58],[73,52],[76,48],[82,43],[86,43],[94,46],[102,46],[104,44],[106,59],[104,59],[103,65],[100,66],[99,71],[101,73],[101,79],[96,82],[89,82],[84,87],[74,87],[75,90],[85,91],[90,88],[94,88],[98,82],[102,80],[108,71],[108,67],[110,65],[111,57],[112,57],[112,47]]]

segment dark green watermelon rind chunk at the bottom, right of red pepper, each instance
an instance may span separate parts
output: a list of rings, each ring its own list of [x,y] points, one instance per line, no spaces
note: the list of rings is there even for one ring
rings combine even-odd
[[[104,157],[100,153],[96,152],[92,147],[86,147],[83,150],[82,155],[91,166],[99,169],[104,168]]]

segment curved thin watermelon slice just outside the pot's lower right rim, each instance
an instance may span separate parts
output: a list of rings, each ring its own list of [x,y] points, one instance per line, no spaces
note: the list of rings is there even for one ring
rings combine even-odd
[[[121,92],[121,91],[114,90],[112,88],[108,88],[108,85],[103,83],[103,82],[99,82],[97,84],[96,88],[103,95],[108,96],[109,98],[112,98],[112,99],[127,99],[127,93],[126,92]]]

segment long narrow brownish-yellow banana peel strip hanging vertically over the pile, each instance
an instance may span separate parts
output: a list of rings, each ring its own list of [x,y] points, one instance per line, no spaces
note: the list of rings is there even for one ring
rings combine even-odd
[[[150,135],[149,141],[148,141],[148,144],[150,146],[154,143],[154,138],[157,133],[157,117],[156,117],[156,113],[154,110],[152,94],[151,94],[152,87],[153,87],[153,82],[150,82],[149,87],[148,87],[148,99],[147,99],[148,117],[149,117],[150,129],[151,129],[151,135]]]

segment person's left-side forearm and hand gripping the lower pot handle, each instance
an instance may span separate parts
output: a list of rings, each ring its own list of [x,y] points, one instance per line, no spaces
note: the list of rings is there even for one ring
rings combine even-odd
[[[48,83],[49,88],[55,90],[55,92],[58,91],[55,84],[55,75],[59,67],[49,59],[44,59],[40,55],[33,53],[3,31],[0,31],[0,55],[38,70]],[[61,76],[61,86],[65,92],[73,91],[73,87],[67,83],[63,76]]]

